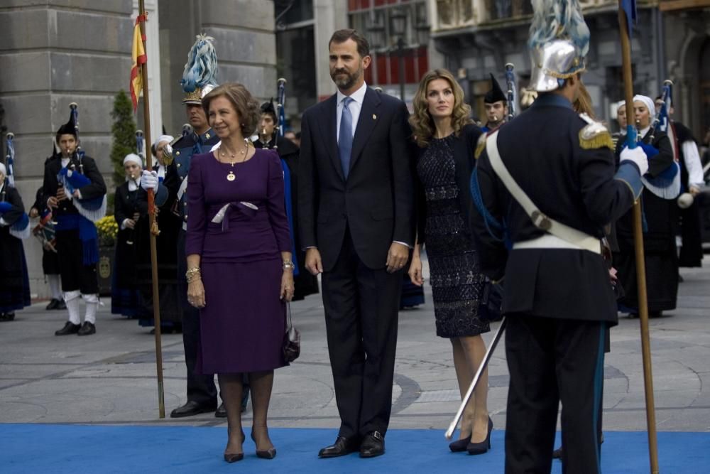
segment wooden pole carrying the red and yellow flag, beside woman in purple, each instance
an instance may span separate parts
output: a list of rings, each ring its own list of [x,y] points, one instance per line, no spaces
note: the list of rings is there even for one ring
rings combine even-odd
[[[138,0],[138,24],[141,28],[141,41],[143,51],[146,50],[146,2]],[[143,53],[145,54],[145,53]],[[148,62],[147,57],[141,63],[141,77],[143,82],[143,121],[146,143],[151,143],[151,105],[148,100]],[[146,161],[146,169],[153,171],[151,160]],[[155,364],[158,370],[158,409],[160,418],[165,418],[165,395],[163,392],[163,343],[160,334],[160,292],[158,291],[158,249],[155,237],[160,232],[158,222],[155,222],[155,194],[153,189],[148,190],[148,218],[151,222],[151,273],[153,276],[153,320],[155,321]]]

